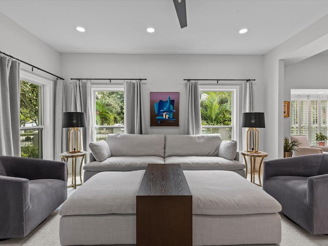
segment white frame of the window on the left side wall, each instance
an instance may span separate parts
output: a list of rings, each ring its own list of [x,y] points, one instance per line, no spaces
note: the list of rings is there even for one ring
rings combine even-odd
[[[37,127],[23,127],[23,129],[42,129],[42,156],[43,159],[52,160],[54,159],[54,81],[22,69],[20,69],[19,80],[24,80],[41,87],[41,117],[39,120],[42,125]]]

